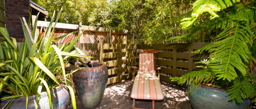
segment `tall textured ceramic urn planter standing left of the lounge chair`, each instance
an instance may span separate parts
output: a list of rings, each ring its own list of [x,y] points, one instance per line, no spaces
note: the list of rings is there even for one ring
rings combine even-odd
[[[79,67],[81,66],[77,65],[75,69]],[[84,108],[94,108],[101,103],[108,82],[108,69],[105,64],[90,64],[89,67],[74,73],[72,78]]]

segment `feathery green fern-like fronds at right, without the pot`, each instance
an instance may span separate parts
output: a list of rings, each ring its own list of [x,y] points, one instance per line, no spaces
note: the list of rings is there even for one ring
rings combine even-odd
[[[228,89],[230,100],[242,102],[244,98],[254,98],[255,76],[251,73],[251,64],[256,52],[255,47],[255,1],[237,3],[234,0],[197,0],[193,5],[191,17],[183,19],[182,28],[188,28],[187,35],[173,37],[171,40],[182,41],[192,37],[200,29],[219,30],[219,34],[208,44],[194,53],[210,53],[207,68],[193,71],[172,81],[184,84],[186,80],[198,86],[212,84]],[[202,15],[206,12],[209,15]],[[192,27],[197,18],[207,16],[201,24]],[[185,21],[186,20],[186,21]],[[254,56],[254,57],[253,57]],[[212,78],[209,78],[212,77]],[[181,79],[181,80],[180,80]],[[255,100],[254,100],[255,101]]]

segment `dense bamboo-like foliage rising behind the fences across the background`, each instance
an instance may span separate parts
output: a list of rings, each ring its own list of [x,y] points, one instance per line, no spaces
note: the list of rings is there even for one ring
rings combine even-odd
[[[180,19],[189,17],[193,0],[33,0],[49,15],[63,6],[61,23],[126,29],[131,42],[170,43],[170,37],[184,35]],[[183,13],[186,13],[181,15]],[[181,16],[180,16],[181,15]],[[51,16],[48,17],[48,21]],[[170,20],[169,20],[170,19]],[[203,37],[203,36],[202,36]],[[198,39],[196,39],[198,40]],[[203,41],[203,40],[201,40]],[[189,42],[187,40],[186,42]]]

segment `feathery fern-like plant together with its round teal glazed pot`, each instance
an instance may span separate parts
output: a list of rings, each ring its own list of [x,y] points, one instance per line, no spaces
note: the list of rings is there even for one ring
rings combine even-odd
[[[181,23],[190,33],[170,39],[188,39],[202,29],[221,31],[213,43],[193,52],[210,53],[209,60],[202,61],[205,69],[170,78],[178,84],[187,83],[189,102],[194,109],[250,108],[248,99],[256,96],[256,76],[252,74],[256,53],[249,49],[255,48],[255,5],[255,0],[197,0],[191,17]],[[206,17],[201,24],[199,16]]]

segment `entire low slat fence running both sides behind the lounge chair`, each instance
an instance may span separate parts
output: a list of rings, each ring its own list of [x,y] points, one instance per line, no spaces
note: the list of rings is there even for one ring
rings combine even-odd
[[[75,44],[82,51],[97,51],[89,54],[108,67],[108,84],[120,82],[132,77],[131,66],[137,66],[139,56],[137,49],[158,49],[156,66],[161,67],[160,80],[171,82],[169,77],[182,76],[193,70],[200,70],[196,61],[207,59],[207,54],[191,53],[209,43],[177,43],[177,44],[103,44],[99,40],[95,44]]]

